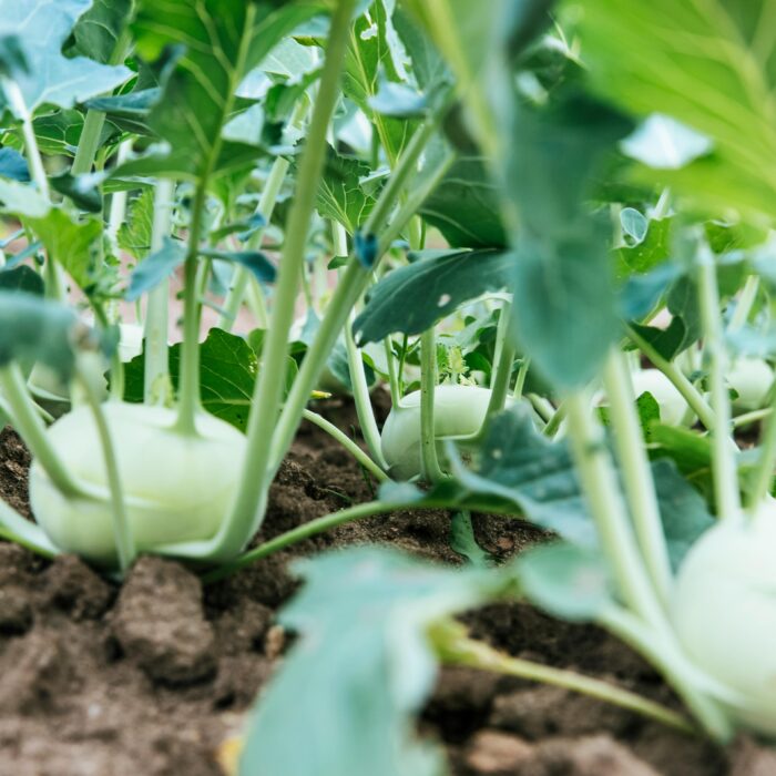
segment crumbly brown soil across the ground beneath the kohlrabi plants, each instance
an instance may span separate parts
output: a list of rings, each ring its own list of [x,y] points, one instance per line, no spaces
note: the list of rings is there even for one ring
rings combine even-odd
[[[326,411],[350,427],[348,407]],[[2,432],[0,494],[21,511],[28,464],[16,436]],[[347,453],[304,427],[273,486],[261,539],[367,500],[370,489]],[[540,538],[514,520],[476,515],[474,524],[497,558]],[[462,562],[442,512],[345,525],[204,591],[166,560],[140,560],[118,586],[73,557],[47,563],[0,544],[0,776],[218,776],[215,753],[239,731],[287,643],[273,619],[295,589],[288,561],[364,542]],[[466,620],[511,654],[674,703],[654,671],[596,629],[519,604]],[[776,774],[776,754],[752,742],[723,752],[585,697],[469,670],[442,671],[421,726],[445,742],[457,776]]]

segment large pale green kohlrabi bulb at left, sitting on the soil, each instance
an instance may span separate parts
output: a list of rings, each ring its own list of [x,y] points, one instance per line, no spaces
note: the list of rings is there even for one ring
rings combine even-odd
[[[204,412],[196,418],[198,435],[192,437],[174,430],[176,413],[171,409],[109,401],[103,411],[137,550],[213,537],[239,487],[245,436]],[[63,496],[33,461],[30,503],[35,520],[62,550],[98,564],[114,564],[110,491],[90,408],[76,408],[47,433],[72,473],[103,491],[104,498]]]

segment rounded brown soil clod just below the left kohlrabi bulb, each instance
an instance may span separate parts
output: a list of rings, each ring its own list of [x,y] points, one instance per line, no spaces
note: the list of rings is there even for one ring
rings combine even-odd
[[[124,654],[157,682],[187,684],[215,670],[202,585],[172,561],[142,558],[135,563],[119,594],[112,632]]]

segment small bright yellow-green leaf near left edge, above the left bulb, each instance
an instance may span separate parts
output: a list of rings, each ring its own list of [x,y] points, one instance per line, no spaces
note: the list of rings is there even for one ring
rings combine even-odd
[[[102,222],[92,218],[75,223],[60,208],[52,208],[42,217],[28,216],[23,222],[38,235],[49,257],[59,262],[79,287],[85,289],[93,283]]]

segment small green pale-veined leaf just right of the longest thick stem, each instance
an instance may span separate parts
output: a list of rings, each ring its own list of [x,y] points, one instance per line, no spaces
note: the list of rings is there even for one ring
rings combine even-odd
[[[374,193],[367,194],[361,178],[371,172],[368,164],[328,149],[326,167],[318,184],[316,207],[326,218],[340,223],[354,235],[375,206]]]

